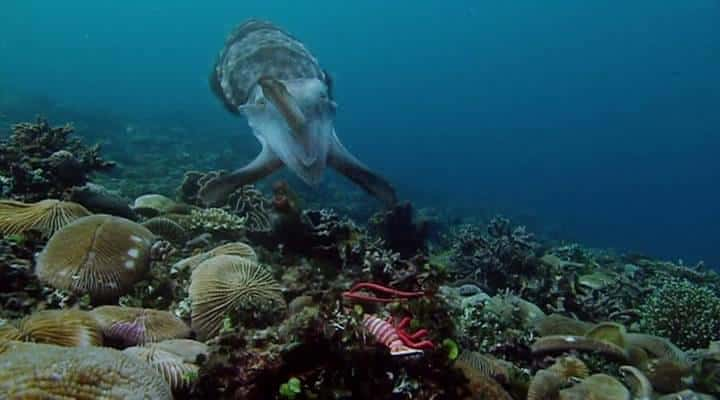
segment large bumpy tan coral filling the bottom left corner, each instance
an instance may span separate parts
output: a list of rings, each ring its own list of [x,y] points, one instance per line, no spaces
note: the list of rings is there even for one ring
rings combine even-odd
[[[9,342],[0,353],[2,399],[172,400],[155,370],[120,351]]]

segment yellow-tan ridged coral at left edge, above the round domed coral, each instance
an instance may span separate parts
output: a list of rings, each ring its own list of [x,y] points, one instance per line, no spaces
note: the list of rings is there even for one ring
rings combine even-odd
[[[77,203],[53,199],[37,203],[0,200],[0,233],[14,235],[35,230],[50,236],[90,211]]]

